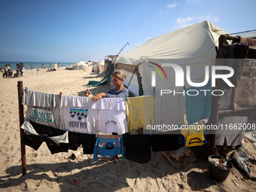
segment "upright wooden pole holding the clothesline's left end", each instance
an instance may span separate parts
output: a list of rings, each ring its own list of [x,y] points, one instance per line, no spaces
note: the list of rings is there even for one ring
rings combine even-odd
[[[18,81],[18,99],[19,99],[19,115],[20,126],[24,123],[24,110],[21,100],[23,98],[23,81]],[[23,144],[24,130],[20,128],[20,151],[21,151],[21,167],[23,175],[26,175],[26,148]]]

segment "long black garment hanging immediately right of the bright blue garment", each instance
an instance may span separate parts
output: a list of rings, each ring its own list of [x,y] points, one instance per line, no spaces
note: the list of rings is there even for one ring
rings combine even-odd
[[[123,135],[126,159],[136,163],[147,163],[151,160],[150,135]]]

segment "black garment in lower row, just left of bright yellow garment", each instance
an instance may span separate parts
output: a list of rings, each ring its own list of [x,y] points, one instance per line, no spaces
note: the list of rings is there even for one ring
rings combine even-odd
[[[154,134],[151,136],[152,151],[172,151],[179,148],[180,134]]]

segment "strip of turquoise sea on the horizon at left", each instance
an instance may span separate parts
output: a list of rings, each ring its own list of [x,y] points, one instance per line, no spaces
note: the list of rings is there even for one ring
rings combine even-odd
[[[17,61],[20,62],[20,61]],[[11,69],[16,70],[17,62],[14,61],[0,61],[0,69],[6,64],[11,65]],[[42,69],[53,68],[56,62],[23,62],[24,68],[27,69]],[[74,62],[59,62],[59,67],[73,66]]]

